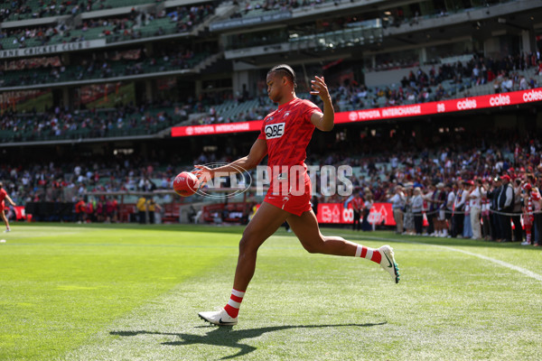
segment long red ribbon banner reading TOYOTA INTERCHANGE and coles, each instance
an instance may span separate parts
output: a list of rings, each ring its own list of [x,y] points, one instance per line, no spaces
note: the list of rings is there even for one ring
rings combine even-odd
[[[410,106],[388,106],[374,109],[354,110],[335,114],[335,124],[355,123],[369,120],[401,118],[409,116],[430,116],[461,112],[464,110],[484,109],[497,106],[515,106],[542,101],[542,88],[512,91],[479,97],[462,97],[458,99],[413,104]],[[172,136],[191,136],[207,134],[226,134],[238,132],[257,132],[262,120],[250,122],[228,123],[219,125],[174,126]]]

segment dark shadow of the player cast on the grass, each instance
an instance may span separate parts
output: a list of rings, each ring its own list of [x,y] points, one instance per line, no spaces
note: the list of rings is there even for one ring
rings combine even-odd
[[[344,324],[344,325],[299,325],[299,326],[271,326],[260,329],[239,329],[235,330],[232,327],[214,327],[214,326],[202,326],[205,328],[213,328],[207,334],[192,335],[188,333],[170,333],[170,332],[154,332],[154,331],[111,331],[109,334],[122,337],[131,337],[137,335],[164,335],[164,336],[176,336],[180,338],[178,341],[163,342],[162,345],[169,346],[187,346],[187,345],[211,345],[211,346],[225,346],[235,347],[239,351],[237,354],[231,356],[224,356],[221,359],[229,359],[238,356],[243,356],[256,350],[257,347],[245,345],[239,341],[247,338],[257,338],[266,332],[280,331],[282,329],[322,329],[322,328],[340,328],[340,327],[372,327],[385,325],[388,322],[380,323],[364,323],[364,324]]]

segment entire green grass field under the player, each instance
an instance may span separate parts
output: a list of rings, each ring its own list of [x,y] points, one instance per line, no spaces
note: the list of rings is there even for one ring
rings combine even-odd
[[[322,230],[389,244],[378,265],[309,255],[279,230],[233,328],[242,227],[12,225],[0,236],[0,360],[540,360],[542,253],[520,245]]]

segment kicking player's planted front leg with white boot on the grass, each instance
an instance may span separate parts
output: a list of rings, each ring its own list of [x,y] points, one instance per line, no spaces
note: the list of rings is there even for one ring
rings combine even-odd
[[[285,210],[269,203],[261,204],[254,217],[248,222],[239,242],[238,264],[228,304],[223,310],[200,312],[201,319],[220,326],[237,324],[241,301],[256,269],[257,250],[282,226],[288,215],[289,213]]]

